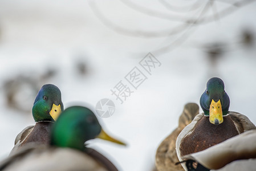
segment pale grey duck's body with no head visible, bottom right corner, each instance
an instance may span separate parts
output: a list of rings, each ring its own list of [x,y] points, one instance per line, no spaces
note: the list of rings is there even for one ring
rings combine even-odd
[[[256,129],[241,133],[201,152],[188,154],[188,170],[255,170]],[[196,161],[196,162],[195,162]]]

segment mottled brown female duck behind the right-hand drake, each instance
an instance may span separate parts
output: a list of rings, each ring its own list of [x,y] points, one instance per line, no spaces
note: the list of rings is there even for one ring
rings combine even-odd
[[[178,120],[178,128],[162,141],[159,148],[156,150],[156,168],[159,171],[164,170],[182,170],[181,164],[175,165],[178,162],[176,154],[176,139],[178,134],[186,125],[190,124],[194,117],[199,113],[199,107],[196,103],[188,103],[185,105],[183,112]]]

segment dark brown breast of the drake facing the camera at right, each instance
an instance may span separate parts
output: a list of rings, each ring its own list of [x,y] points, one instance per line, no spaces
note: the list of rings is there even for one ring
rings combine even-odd
[[[209,116],[203,116],[194,126],[192,133],[184,137],[181,141],[181,156],[200,152],[201,150],[238,135],[238,131],[235,128],[231,117],[228,115],[223,118],[223,123],[214,125],[210,123]]]

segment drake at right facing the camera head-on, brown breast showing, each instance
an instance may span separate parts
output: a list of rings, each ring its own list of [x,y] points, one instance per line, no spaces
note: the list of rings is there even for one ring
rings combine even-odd
[[[186,154],[200,152],[256,128],[245,115],[230,112],[229,104],[224,82],[220,78],[211,78],[200,98],[204,113],[198,114],[177,137],[176,152],[180,161]]]

